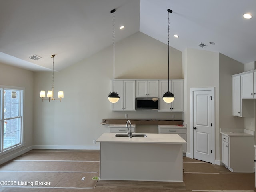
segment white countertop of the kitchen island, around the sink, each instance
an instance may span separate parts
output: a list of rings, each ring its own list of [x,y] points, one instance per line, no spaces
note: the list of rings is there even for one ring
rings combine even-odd
[[[116,143],[160,143],[160,144],[184,144],[187,143],[178,134],[146,133],[147,137],[115,137],[118,133],[104,133],[96,142]],[[142,134],[142,133],[137,133]]]

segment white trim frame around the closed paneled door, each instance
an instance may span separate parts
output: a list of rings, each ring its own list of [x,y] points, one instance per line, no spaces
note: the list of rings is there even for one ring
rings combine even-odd
[[[190,88],[190,158],[194,159],[194,108],[193,108],[193,97],[194,91],[211,91],[212,92],[212,129],[211,138],[212,142],[212,164],[215,164],[215,87],[205,87],[205,88]]]

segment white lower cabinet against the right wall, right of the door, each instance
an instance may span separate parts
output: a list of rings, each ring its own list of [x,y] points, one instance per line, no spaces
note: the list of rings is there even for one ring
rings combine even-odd
[[[231,133],[221,137],[222,163],[226,168],[231,172],[254,172],[254,136]]]

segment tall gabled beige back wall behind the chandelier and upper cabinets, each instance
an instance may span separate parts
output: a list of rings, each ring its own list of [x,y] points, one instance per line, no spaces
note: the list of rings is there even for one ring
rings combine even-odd
[[[168,46],[141,32],[115,44],[115,78],[168,78]],[[170,48],[170,78],[182,78],[182,53]],[[54,62],[58,62],[58,53]],[[40,147],[94,148],[92,140],[108,126],[105,118],[182,119],[182,113],[136,111],[112,112],[108,94],[112,91],[112,46],[54,73],[54,90],[64,91],[64,99],[43,103],[40,90],[50,90],[50,72],[35,73],[34,144]]]

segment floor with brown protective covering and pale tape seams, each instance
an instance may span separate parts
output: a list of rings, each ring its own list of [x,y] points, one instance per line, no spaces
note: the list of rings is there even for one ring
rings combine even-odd
[[[224,166],[186,157],[183,168],[184,182],[95,180],[92,178],[99,176],[98,150],[31,150],[0,165],[0,181],[6,181],[0,192],[256,191],[254,173],[232,173]]]

